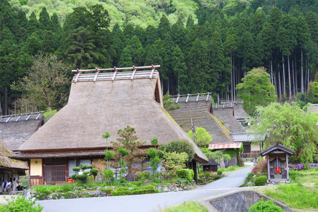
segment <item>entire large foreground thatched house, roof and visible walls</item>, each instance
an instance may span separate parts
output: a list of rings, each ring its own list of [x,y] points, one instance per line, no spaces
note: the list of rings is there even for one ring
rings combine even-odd
[[[159,66],[157,66],[159,67]],[[71,86],[68,104],[55,114],[43,127],[23,143],[21,152],[14,158],[28,161],[31,186],[38,184],[64,183],[79,163],[98,163],[104,157],[110,142],[102,137],[106,131],[108,139],[116,141],[119,129],[127,125],[136,129],[136,136],[152,146],[151,138],[157,137],[159,144],[173,139],[185,139],[194,149],[196,162],[208,158],[186,135],[162,107],[159,72],[156,66],[150,71],[118,72],[128,68],[96,69],[95,73],[78,72]],[[195,169],[195,168],[194,168]]]

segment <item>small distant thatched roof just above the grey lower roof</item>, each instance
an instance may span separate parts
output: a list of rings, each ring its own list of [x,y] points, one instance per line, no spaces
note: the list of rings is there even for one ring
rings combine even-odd
[[[234,107],[214,107],[213,115],[220,121],[224,122],[225,127],[231,133],[244,133],[246,132],[239,121],[234,117]]]

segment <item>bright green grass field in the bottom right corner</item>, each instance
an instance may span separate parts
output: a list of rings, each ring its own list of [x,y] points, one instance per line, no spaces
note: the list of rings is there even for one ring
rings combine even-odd
[[[292,174],[290,184],[256,190],[293,209],[318,211],[318,171],[296,172],[299,173]]]

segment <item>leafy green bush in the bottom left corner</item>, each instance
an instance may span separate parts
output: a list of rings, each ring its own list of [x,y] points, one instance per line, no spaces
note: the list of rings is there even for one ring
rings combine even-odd
[[[0,204],[0,212],[42,212],[43,207],[35,206],[35,201],[27,200],[19,194],[16,198],[5,199],[7,204]]]

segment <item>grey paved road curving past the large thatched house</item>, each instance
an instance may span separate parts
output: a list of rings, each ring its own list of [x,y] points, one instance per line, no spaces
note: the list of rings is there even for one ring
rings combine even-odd
[[[240,169],[227,177],[191,191],[119,197],[95,197],[37,201],[45,212],[156,212],[189,200],[234,190],[244,181],[252,167]],[[236,188],[243,189],[243,188]]]

